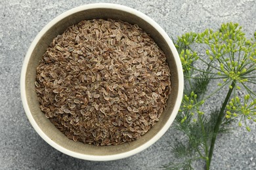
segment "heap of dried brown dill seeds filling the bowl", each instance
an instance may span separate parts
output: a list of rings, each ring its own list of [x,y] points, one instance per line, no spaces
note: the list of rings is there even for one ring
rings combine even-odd
[[[138,25],[81,21],[54,38],[39,62],[40,108],[74,141],[135,141],[166,107],[171,82],[165,59]]]

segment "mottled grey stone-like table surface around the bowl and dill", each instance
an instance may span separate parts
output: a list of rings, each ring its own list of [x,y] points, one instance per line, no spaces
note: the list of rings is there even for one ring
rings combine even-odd
[[[20,99],[20,71],[34,37],[62,12],[99,2],[117,3],[140,10],[173,37],[189,31],[200,32],[207,27],[217,29],[223,22],[239,23],[247,37],[252,37],[256,29],[255,0],[1,0],[0,169],[158,169],[169,161],[177,161],[169,143],[182,136],[173,127],[158,142],[135,156],[96,162],[58,152],[37,135],[26,117]],[[212,169],[256,169],[256,126],[250,124],[250,127],[251,133],[236,127],[233,133],[219,136]],[[203,169],[203,162],[195,167]]]

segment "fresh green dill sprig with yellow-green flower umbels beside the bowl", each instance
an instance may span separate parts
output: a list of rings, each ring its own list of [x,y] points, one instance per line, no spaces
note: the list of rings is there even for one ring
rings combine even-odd
[[[247,39],[242,27],[227,23],[217,31],[186,33],[178,37],[175,46],[185,84],[175,129],[184,133],[186,140],[172,146],[175,156],[183,161],[163,168],[193,169],[194,161],[204,160],[205,169],[209,169],[217,135],[230,131],[234,120],[247,131],[251,131],[247,122],[256,122],[256,92],[249,88],[256,84],[256,32],[253,39]],[[208,90],[209,84],[216,88]],[[203,112],[204,103],[217,98],[221,90],[227,92],[221,107]],[[240,90],[247,93],[242,99]]]

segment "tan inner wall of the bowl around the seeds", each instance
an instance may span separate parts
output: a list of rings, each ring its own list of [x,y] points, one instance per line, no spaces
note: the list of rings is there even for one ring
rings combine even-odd
[[[67,27],[73,24],[77,24],[81,20],[92,20],[92,19],[118,19],[131,24],[138,24],[139,27],[144,29],[146,33],[154,39],[154,41],[160,46],[161,50],[167,56],[167,62],[169,68],[171,69],[171,95],[167,101],[167,108],[164,110],[163,114],[160,117],[159,122],[150,129],[145,135],[143,135],[137,141],[131,143],[119,144],[117,146],[94,146],[90,144],[83,144],[80,142],[74,142],[68,139],[63,133],[61,133],[56,127],[45,117],[45,114],[39,109],[39,102],[37,100],[37,95],[35,93],[35,77],[36,77],[36,67],[39,64],[39,60],[42,58],[50,42],[53,41],[54,37],[62,34]],[[170,118],[173,107],[175,106],[177,100],[179,88],[178,80],[178,71],[175,59],[173,58],[173,53],[169,48],[167,42],[161,34],[156,30],[152,25],[148,24],[145,20],[142,20],[135,14],[129,12],[124,12],[122,10],[116,9],[87,9],[83,11],[76,12],[66,16],[52,27],[41,37],[39,42],[35,45],[30,60],[28,62],[28,67],[26,70],[25,78],[25,89],[26,89],[26,98],[28,101],[28,107],[33,116],[33,119],[41,128],[43,133],[47,135],[54,143],[66,148],[72,152],[77,152],[79,154],[86,154],[92,156],[108,156],[119,154],[123,152],[129,152],[135,148],[141,146],[142,144],[149,141],[154,137],[158,131],[165,125],[167,120]]]

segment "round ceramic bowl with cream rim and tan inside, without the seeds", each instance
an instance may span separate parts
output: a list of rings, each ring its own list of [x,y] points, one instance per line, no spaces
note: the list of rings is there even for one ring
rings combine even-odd
[[[145,135],[131,143],[115,146],[95,146],[74,142],[61,133],[39,108],[39,101],[35,93],[36,67],[54,37],[60,35],[70,25],[81,20],[117,19],[137,24],[154,39],[167,56],[167,63],[171,70],[171,94],[167,100],[167,107],[157,122]],[[183,92],[183,73],[179,54],[167,33],[150,17],[138,10],[122,5],[109,3],[95,3],[83,5],[68,10],[54,18],[47,24],[33,40],[24,59],[20,78],[22,104],[28,120],[37,133],[51,146],[83,160],[109,161],[126,158],[137,154],[154,144],[171,126],[181,105]]]

